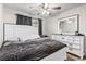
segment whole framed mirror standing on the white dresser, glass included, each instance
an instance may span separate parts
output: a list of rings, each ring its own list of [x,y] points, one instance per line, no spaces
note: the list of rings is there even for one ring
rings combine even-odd
[[[75,35],[78,31],[78,15],[72,15],[69,17],[60,18],[59,22],[59,33],[66,35]]]

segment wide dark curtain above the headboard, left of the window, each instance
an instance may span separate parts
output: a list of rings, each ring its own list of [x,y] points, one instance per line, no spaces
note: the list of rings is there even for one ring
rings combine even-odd
[[[32,17],[24,16],[24,15],[17,15],[16,25],[30,25],[32,26]]]

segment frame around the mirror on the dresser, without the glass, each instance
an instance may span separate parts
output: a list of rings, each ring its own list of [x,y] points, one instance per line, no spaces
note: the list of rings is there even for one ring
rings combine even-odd
[[[69,20],[69,18],[72,18],[72,17],[75,17],[75,22],[76,22],[76,31],[79,33],[79,14],[74,14],[74,15],[70,15],[70,16],[66,16],[66,17],[62,17],[62,18],[58,18],[58,31],[59,34],[62,34],[62,35],[75,35],[76,31],[74,33],[61,33],[60,31],[60,22],[61,21],[65,21],[65,20]]]

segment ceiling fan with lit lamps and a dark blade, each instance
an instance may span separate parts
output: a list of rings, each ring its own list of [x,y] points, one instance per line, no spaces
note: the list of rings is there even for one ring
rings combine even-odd
[[[41,12],[42,15],[44,14],[48,14],[49,15],[51,13],[50,10],[61,10],[61,7],[53,7],[53,8],[51,8],[49,3],[41,3],[40,7],[42,9],[42,12]]]

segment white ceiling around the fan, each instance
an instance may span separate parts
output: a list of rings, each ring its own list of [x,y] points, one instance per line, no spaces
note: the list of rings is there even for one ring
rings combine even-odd
[[[73,9],[75,7],[82,5],[84,3],[49,3],[49,8],[61,7],[61,10],[52,10],[50,9],[50,15],[59,14],[63,11]],[[4,3],[7,8],[15,9],[19,11],[23,11],[34,16],[48,17],[50,15],[41,15],[42,9],[41,3]]]

